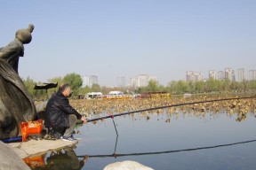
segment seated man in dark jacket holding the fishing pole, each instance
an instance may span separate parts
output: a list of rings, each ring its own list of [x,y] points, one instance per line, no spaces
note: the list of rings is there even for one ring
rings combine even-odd
[[[86,123],[85,117],[69,104],[68,97],[71,95],[72,90],[68,84],[60,85],[59,90],[49,99],[45,110],[44,126],[52,128],[53,133],[60,133],[61,136],[54,137],[60,137],[63,141],[76,140],[72,133],[77,120],[81,119]]]

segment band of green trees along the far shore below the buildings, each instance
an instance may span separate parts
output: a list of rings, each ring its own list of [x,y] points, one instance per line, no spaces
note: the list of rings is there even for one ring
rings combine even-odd
[[[48,89],[48,94],[44,89],[34,89],[36,84],[41,82],[36,82],[29,77],[26,80],[22,80],[27,87],[29,93],[38,100],[47,99],[47,95],[51,96],[52,93],[58,90]],[[55,77],[49,79],[48,82],[58,82],[58,85],[62,83],[68,83],[74,91],[73,97],[83,96],[88,92],[102,92],[102,94],[108,94],[112,90],[123,91],[124,94],[140,94],[143,92],[157,92],[164,91],[171,93],[172,95],[180,95],[184,93],[215,93],[215,92],[243,92],[243,91],[255,91],[256,90],[256,80],[253,81],[229,81],[229,80],[213,80],[209,79],[207,81],[170,81],[167,86],[159,84],[157,81],[148,81],[147,87],[115,87],[109,88],[106,86],[101,86],[99,84],[92,84],[92,87],[84,87],[83,80],[81,76],[77,73],[68,73],[63,78]]]

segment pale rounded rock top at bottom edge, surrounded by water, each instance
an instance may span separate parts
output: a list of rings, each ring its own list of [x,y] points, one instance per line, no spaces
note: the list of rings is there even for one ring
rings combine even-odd
[[[151,167],[143,166],[142,164],[131,161],[124,160],[123,162],[115,162],[104,167],[103,170],[154,170]]]

